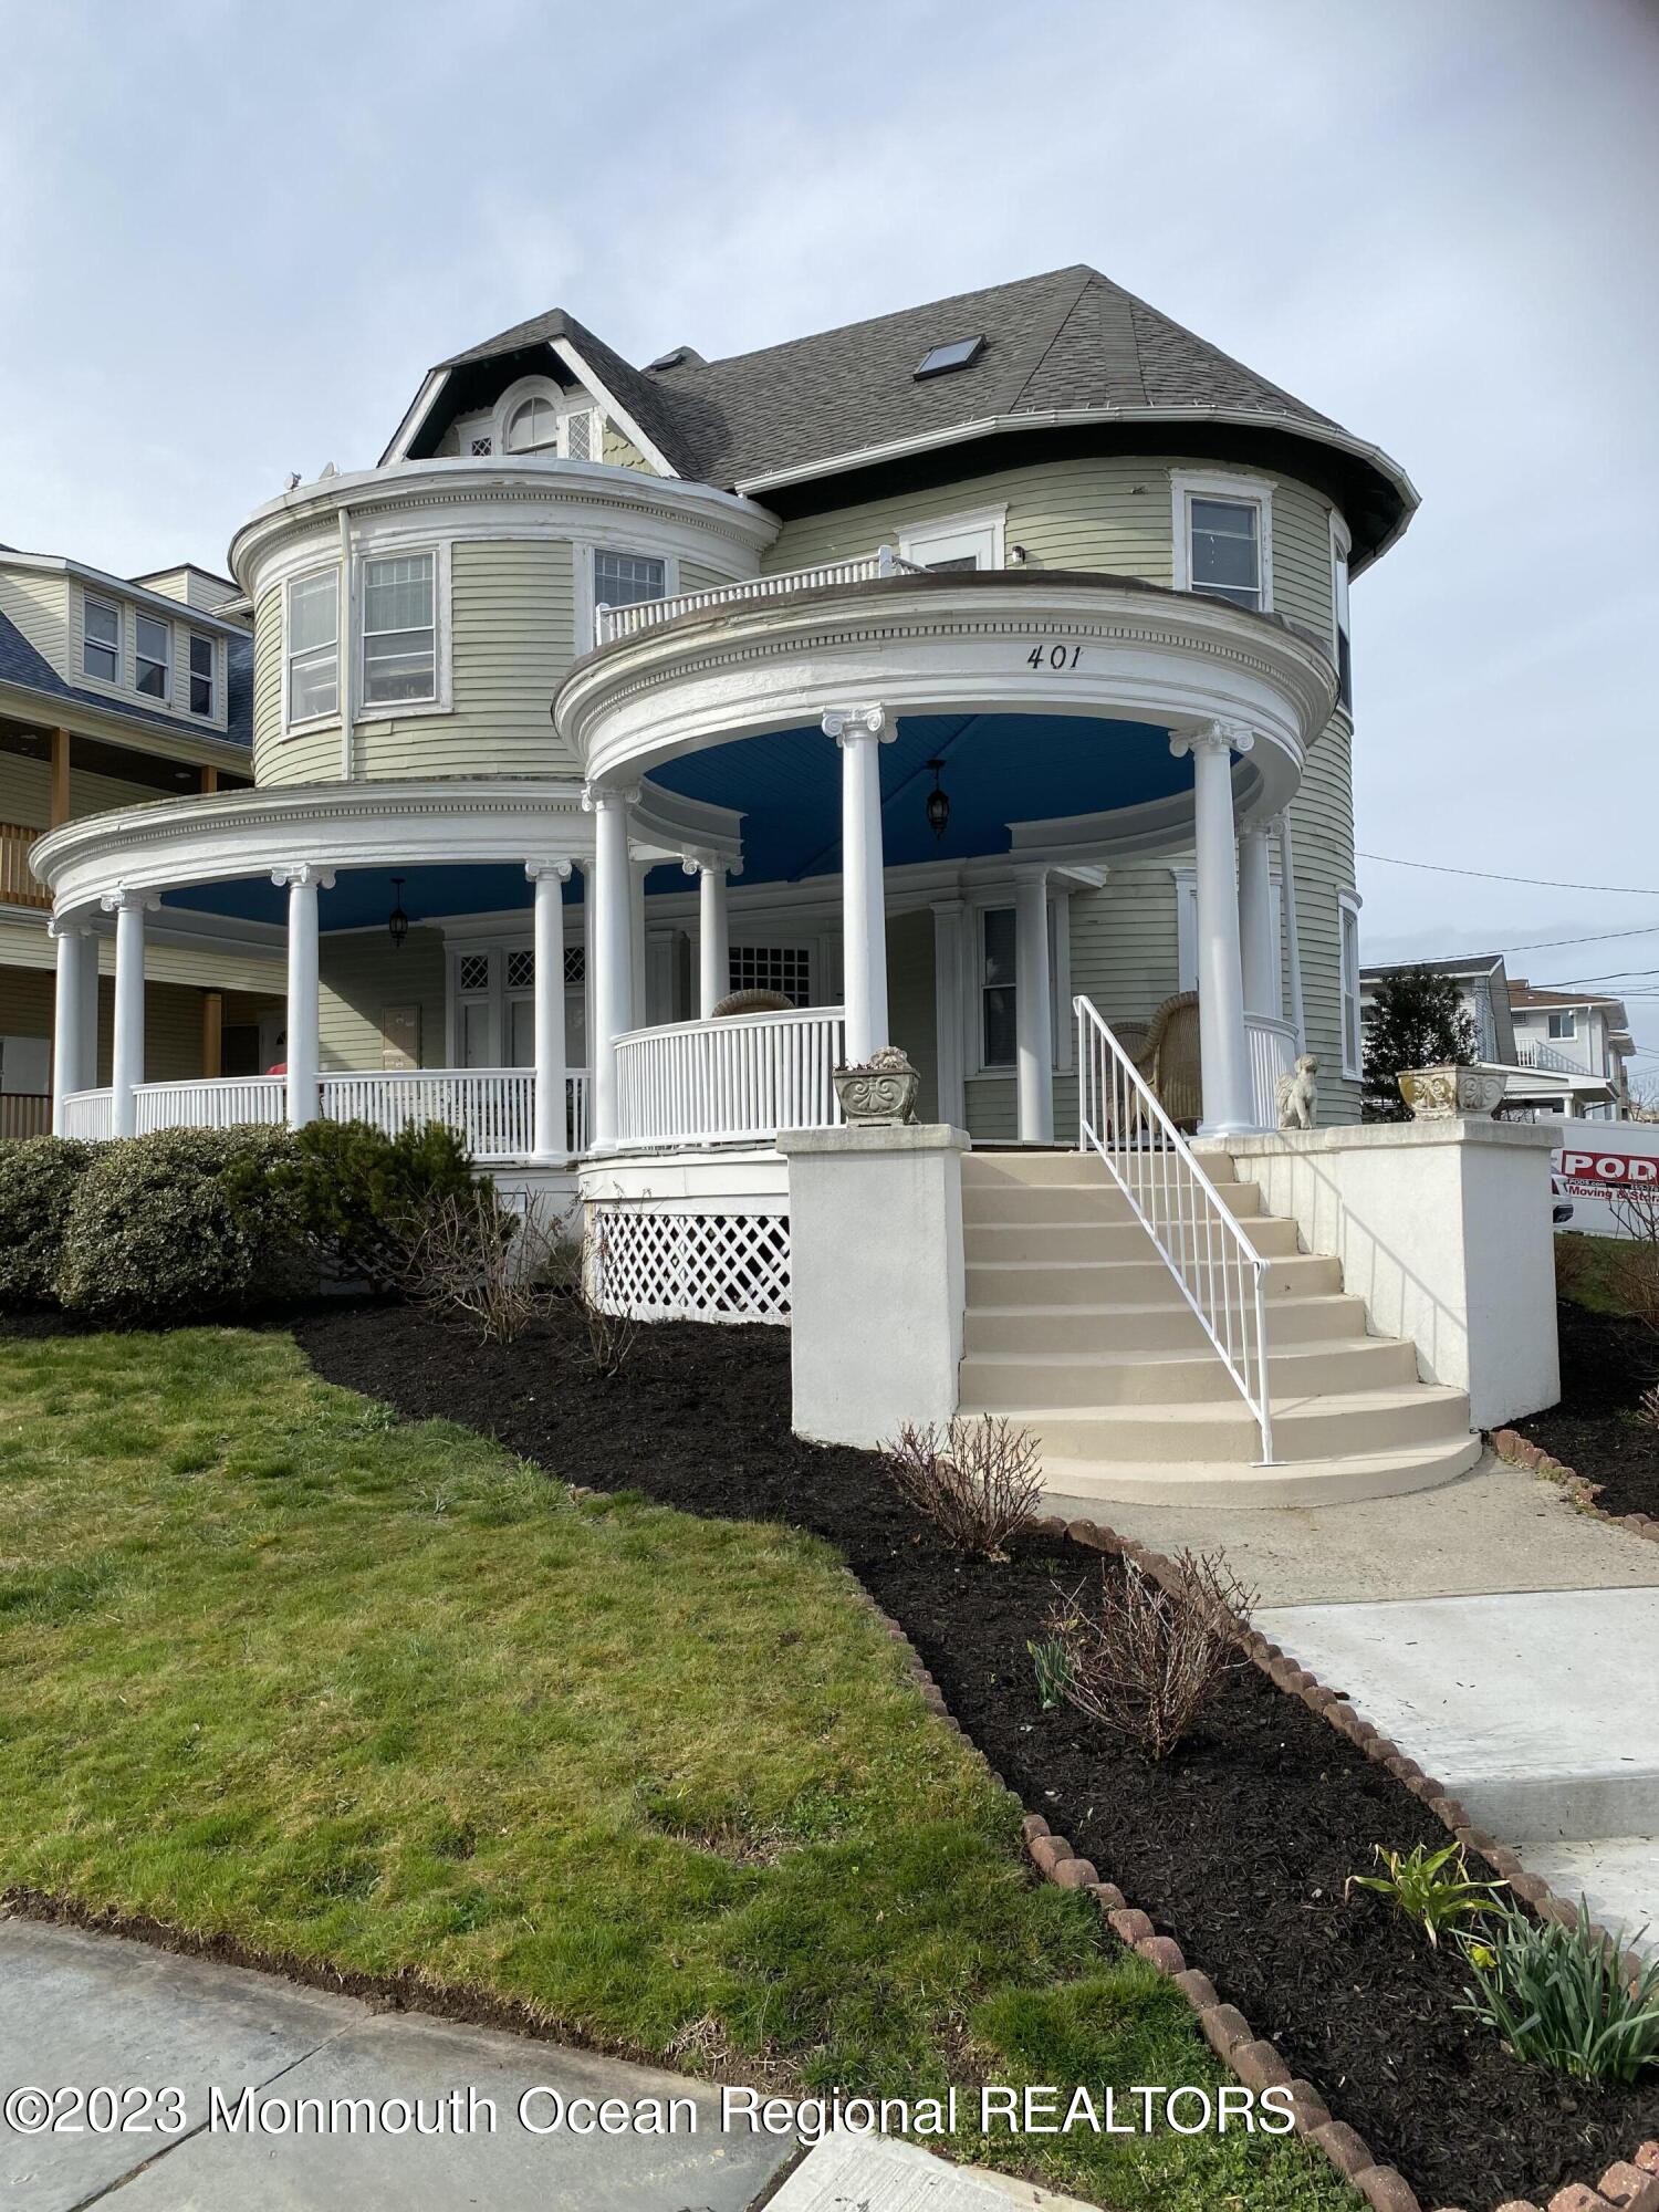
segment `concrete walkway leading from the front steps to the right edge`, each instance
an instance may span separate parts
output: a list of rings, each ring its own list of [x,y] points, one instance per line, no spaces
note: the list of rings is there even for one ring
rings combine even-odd
[[[1604,1924],[1659,1929],[1659,1544],[1491,1455],[1374,1504],[1102,1517],[1164,1553],[1225,1551],[1261,1632],[1478,1827]]]

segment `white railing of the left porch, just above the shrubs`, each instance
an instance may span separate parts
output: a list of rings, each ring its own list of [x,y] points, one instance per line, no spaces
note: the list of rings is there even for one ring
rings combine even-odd
[[[414,1121],[445,1121],[467,1139],[478,1161],[526,1159],[535,1130],[531,1068],[409,1068],[398,1073],[325,1075],[319,1086],[325,1121],[369,1121],[387,1137]],[[281,1075],[215,1075],[184,1084],[139,1084],[137,1133],[157,1128],[265,1126],[288,1117]],[[564,1077],[564,1126],[573,1152],[588,1146],[588,1071]],[[64,1135],[91,1141],[115,1133],[113,1093],[73,1091],[64,1099]]]

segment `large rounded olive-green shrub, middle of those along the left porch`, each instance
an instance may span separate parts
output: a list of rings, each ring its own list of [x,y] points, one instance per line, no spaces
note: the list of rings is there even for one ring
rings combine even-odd
[[[64,1225],[58,1294],[95,1321],[168,1325],[316,1279],[281,1128],[164,1128],[97,1148]]]

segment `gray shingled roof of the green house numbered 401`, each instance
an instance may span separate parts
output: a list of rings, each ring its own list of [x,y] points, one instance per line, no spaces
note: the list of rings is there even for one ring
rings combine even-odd
[[[916,376],[931,347],[962,338],[984,341],[967,367]],[[400,427],[403,438],[414,418],[411,458],[460,411],[447,400],[482,389],[487,365],[526,372],[560,345],[679,476],[768,498],[781,482],[933,445],[1064,427],[1055,418],[1071,427],[1097,418],[1126,445],[1175,418],[1206,451],[1232,438],[1252,451],[1287,440],[1303,465],[1316,453],[1316,473],[1332,478],[1354,529],[1356,568],[1416,507],[1416,491],[1387,456],[1082,263],[726,361],[684,347],[653,369],[635,369],[575,316],[553,310],[436,365],[422,387],[425,420],[416,403]],[[1157,442],[1168,449],[1168,427]]]

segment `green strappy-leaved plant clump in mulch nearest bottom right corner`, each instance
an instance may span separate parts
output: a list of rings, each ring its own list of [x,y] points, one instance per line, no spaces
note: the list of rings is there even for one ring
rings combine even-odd
[[[1462,2011],[1495,2028],[1517,2059],[1582,2081],[1635,2081],[1659,2068],[1659,1960],[1641,1966],[1613,1938],[1528,1920],[1506,1907],[1486,1936],[1464,1936],[1473,1984]]]

